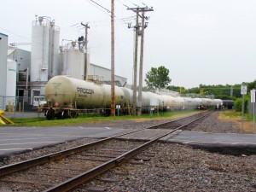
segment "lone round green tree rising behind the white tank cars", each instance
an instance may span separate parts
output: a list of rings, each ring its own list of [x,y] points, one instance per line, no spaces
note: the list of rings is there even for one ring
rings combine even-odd
[[[169,78],[169,69],[164,66],[158,68],[151,67],[151,71],[146,74],[145,82],[148,89],[166,88],[172,79]]]

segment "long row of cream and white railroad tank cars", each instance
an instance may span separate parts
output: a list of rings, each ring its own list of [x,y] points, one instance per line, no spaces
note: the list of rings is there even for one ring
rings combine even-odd
[[[122,113],[129,113],[133,90],[115,86],[115,105]],[[111,85],[96,84],[67,76],[55,76],[45,86],[44,95],[47,103],[38,107],[47,119],[74,118],[83,110],[98,110],[110,113]],[[153,92],[144,92],[143,111],[160,108],[161,110],[185,108],[221,108],[219,99],[166,96]]]

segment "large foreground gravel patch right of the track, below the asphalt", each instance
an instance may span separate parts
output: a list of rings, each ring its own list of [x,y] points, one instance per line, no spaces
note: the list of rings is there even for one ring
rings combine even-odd
[[[91,187],[106,191],[256,191],[255,155],[211,154],[165,143],[148,151],[156,155],[143,165],[126,163],[102,176],[114,177],[117,183],[96,180],[75,191]],[[128,167],[126,175],[116,174],[124,167]]]

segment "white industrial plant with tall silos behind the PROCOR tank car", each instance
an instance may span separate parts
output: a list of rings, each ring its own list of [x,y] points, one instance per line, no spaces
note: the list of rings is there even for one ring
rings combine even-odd
[[[84,38],[79,41],[62,39],[60,28],[50,17],[32,21],[31,52],[8,46],[8,35],[0,33],[0,109],[32,108],[34,96],[44,96],[45,84],[56,75],[75,79],[111,83],[111,70],[90,63]],[[66,43],[66,44],[64,44]],[[115,84],[125,86],[127,79],[115,75]],[[23,104],[22,104],[23,103]]]

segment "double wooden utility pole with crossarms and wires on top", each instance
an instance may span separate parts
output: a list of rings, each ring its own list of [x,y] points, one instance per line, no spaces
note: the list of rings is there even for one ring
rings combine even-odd
[[[145,25],[144,19],[144,13],[147,11],[153,11],[153,9],[148,9],[148,8],[134,8],[130,9],[133,11],[137,12],[137,17],[136,17],[136,43],[135,43],[135,54],[134,54],[134,79],[133,79],[133,100],[132,100],[132,115],[136,115],[136,108],[137,108],[137,41],[138,41],[138,33],[139,33],[139,23],[138,23],[138,16],[139,12],[143,12],[142,17],[142,38],[141,38],[141,54],[140,54],[140,71],[139,71],[139,90],[138,90],[138,115],[142,114],[142,95],[143,95],[143,44],[144,44],[144,29],[147,27]],[[128,26],[129,28],[131,26]]]

